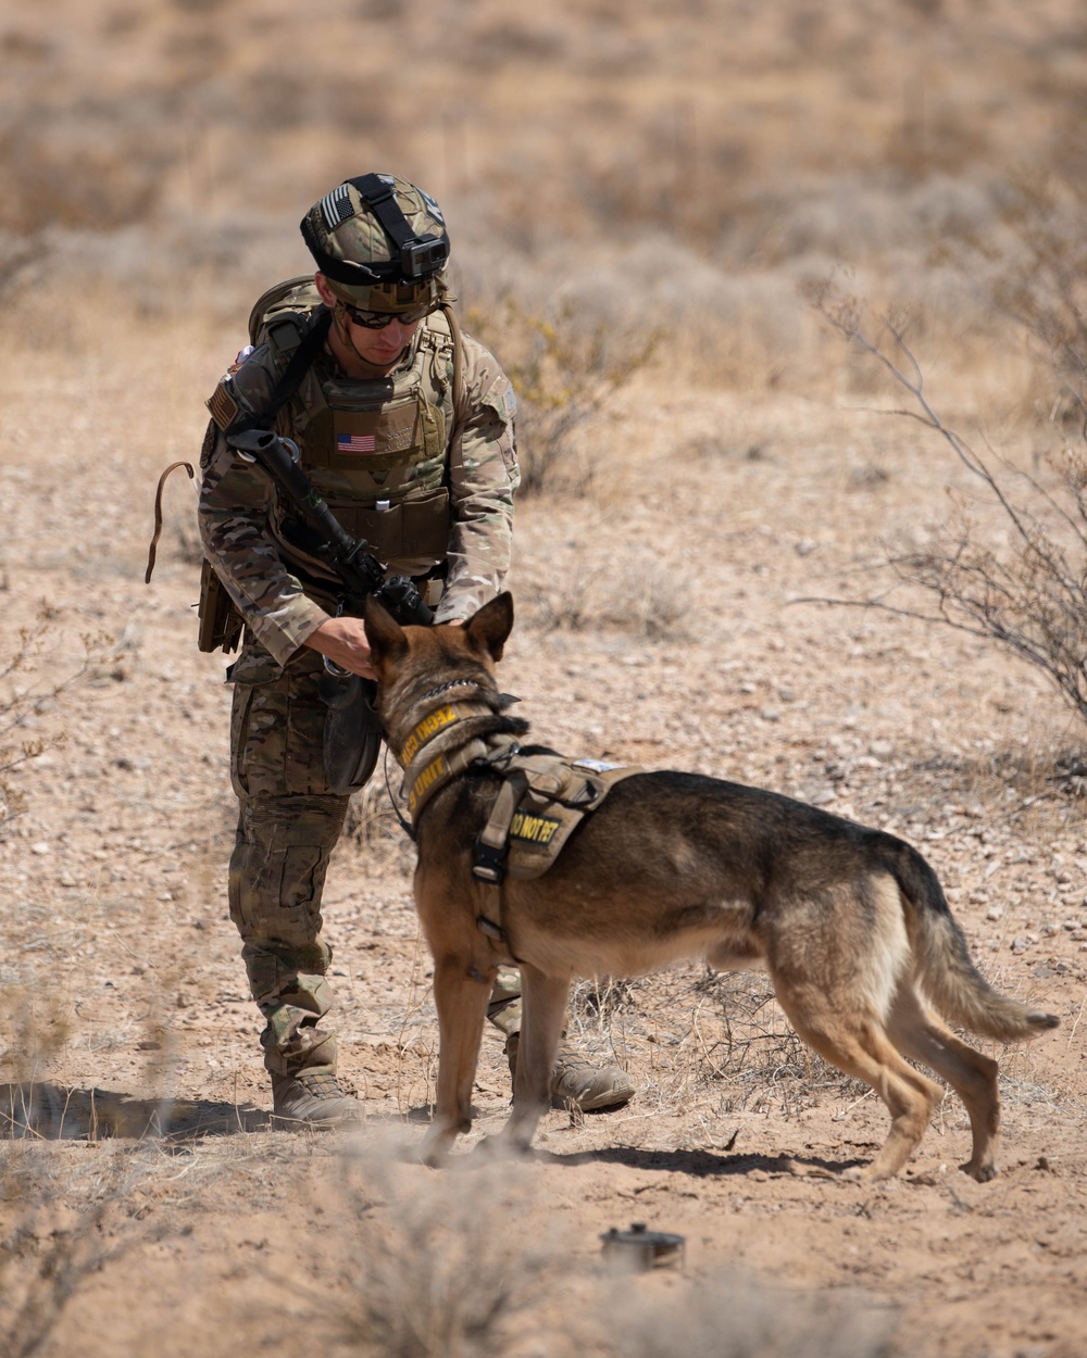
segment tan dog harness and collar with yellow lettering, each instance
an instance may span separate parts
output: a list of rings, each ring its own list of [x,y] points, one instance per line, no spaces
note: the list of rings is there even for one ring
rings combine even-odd
[[[442,690],[463,687],[467,686],[454,682]],[[444,697],[442,690],[427,697]],[[526,752],[505,732],[471,733],[473,725],[481,725],[480,718],[493,722],[493,705],[450,699],[431,708],[401,747],[404,793],[414,835],[423,808],[454,778],[473,769],[489,769],[501,778],[495,805],[473,846],[471,873],[491,888],[476,923],[510,960],[518,961],[501,923],[503,883],[507,877],[518,881],[542,877],[586,815],[603,803],[616,784],[643,770],[637,765],[569,759],[550,750]],[[463,732],[451,729],[461,724]]]

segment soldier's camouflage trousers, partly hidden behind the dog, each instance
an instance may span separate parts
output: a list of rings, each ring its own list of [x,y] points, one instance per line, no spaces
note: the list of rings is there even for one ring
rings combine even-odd
[[[336,1069],[336,1035],[322,1024],[333,994],[321,892],[351,799],[325,782],[321,672],[315,652],[280,667],[247,640],[230,674],[231,777],[239,803],[230,914],[265,1019],[261,1046],[272,1074]],[[520,1028],[515,970],[499,974],[488,1014],[507,1035]]]

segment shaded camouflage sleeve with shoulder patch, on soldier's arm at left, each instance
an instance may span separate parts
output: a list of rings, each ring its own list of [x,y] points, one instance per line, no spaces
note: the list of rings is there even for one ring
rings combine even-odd
[[[327,614],[306,598],[276,550],[268,531],[266,474],[227,447],[226,430],[260,410],[270,394],[273,378],[264,359],[258,349],[208,401],[198,516],[208,561],[257,640],[285,664]]]

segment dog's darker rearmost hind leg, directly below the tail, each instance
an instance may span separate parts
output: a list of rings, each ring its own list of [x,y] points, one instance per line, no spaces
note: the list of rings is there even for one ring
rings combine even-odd
[[[973,1154],[963,1171],[978,1183],[996,1175],[996,1148],[1000,1133],[1000,1092],[997,1065],[957,1038],[921,1002],[912,986],[895,997],[890,1023],[891,1042],[905,1057],[935,1070],[951,1085],[966,1105],[973,1134]]]

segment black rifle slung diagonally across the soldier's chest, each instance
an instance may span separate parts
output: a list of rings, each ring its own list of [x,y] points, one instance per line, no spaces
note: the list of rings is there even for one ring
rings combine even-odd
[[[243,429],[228,433],[227,443],[246,462],[255,462],[284,493],[302,520],[318,536],[314,555],[319,557],[344,585],[345,606],[361,614],[363,599],[372,595],[399,622],[428,626],[433,614],[406,576],[386,576],[385,566],[370,550],[366,538],[352,538],[318,494],[298,464],[298,447],[272,429]],[[292,451],[293,449],[293,451]]]

